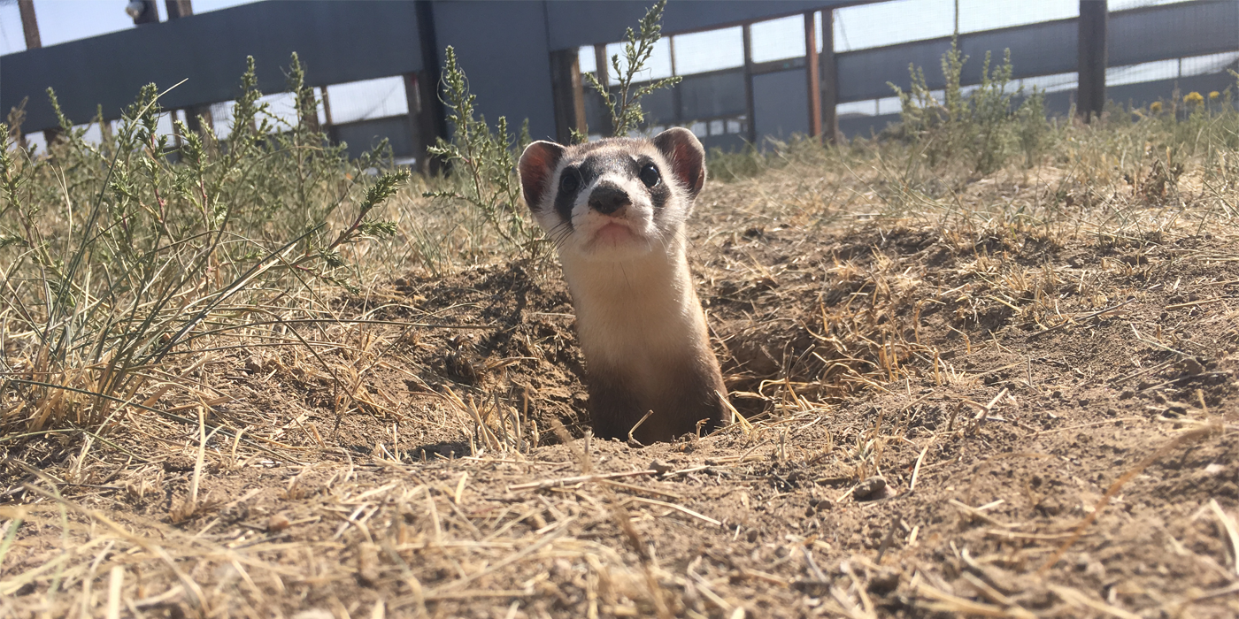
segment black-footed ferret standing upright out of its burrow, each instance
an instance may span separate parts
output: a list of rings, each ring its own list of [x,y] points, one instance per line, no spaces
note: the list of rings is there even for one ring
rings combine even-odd
[[[685,220],[705,183],[686,129],[653,140],[530,144],[520,184],[554,240],[576,307],[593,432],[642,443],[731,421],[719,360],[685,258]]]

